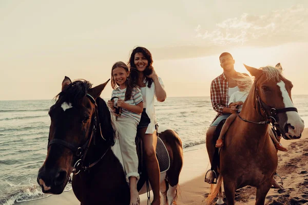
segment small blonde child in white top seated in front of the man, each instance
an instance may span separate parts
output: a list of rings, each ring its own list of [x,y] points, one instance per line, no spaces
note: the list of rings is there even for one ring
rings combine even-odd
[[[224,125],[222,126],[220,135],[216,141],[216,148],[223,147],[223,136],[226,134],[227,130],[229,129],[232,122],[237,117],[237,112],[241,112],[242,110],[242,104],[246,100],[249,90],[252,85],[252,80],[250,77],[241,75],[240,78],[235,79],[237,81],[237,86],[239,87],[239,91],[234,92],[229,99],[228,106],[231,106],[230,108],[233,110],[233,113],[226,119]],[[235,102],[243,102],[242,104],[239,104],[237,106],[232,106]],[[283,147],[280,142],[276,139],[274,133],[272,130],[269,131],[269,136],[271,136],[271,139],[274,142],[274,145],[277,150],[280,151],[287,151],[285,147]]]

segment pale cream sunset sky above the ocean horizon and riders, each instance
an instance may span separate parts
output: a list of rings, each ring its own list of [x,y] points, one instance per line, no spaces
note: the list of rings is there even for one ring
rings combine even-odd
[[[0,1],[0,100],[52,99],[64,76],[93,86],[146,47],[167,96],[209,96],[222,73],[281,63],[308,94],[308,1]],[[110,83],[102,92],[111,96]]]

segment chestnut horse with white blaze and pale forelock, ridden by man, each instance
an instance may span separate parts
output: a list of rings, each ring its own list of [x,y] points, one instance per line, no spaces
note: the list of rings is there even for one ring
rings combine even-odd
[[[269,137],[269,123],[280,131],[284,139],[298,139],[304,129],[291,98],[293,87],[282,76],[280,64],[260,69],[246,66],[254,77],[254,84],[243,104],[242,111],[230,126],[220,150],[220,169],[217,185],[207,198],[223,203],[222,181],[228,205],[235,204],[235,191],[245,186],[257,188],[256,204],[264,204],[272,186],[278,158]],[[213,156],[215,142],[207,139],[209,156]],[[212,159],[210,159],[212,160]]]

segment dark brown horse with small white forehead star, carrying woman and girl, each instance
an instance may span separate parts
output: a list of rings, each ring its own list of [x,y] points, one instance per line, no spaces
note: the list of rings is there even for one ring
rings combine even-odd
[[[81,204],[129,204],[125,173],[111,150],[115,138],[110,111],[99,97],[108,81],[91,88],[86,80],[64,78],[49,110],[47,157],[37,176],[44,193],[61,194],[74,173],[72,188]],[[182,142],[172,130],[161,132],[160,138],[170,157],[168,171],[161,174],[161,192],[165,204],[172,204],[183,163]]]

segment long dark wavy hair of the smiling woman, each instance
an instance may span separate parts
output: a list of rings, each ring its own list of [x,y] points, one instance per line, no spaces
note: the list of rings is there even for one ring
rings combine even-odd
[[[138,81],[138,74],[139,71],[137,70],[136,65],[134,64],[134,56],[136,53],[142,53],[144,55],[144,57],[148,60],[148,65],[146,66],[145,70],[143,71],[143,79],[145,80],[145,83],[147,83],[147,86],[150,88],[152,83],[153,83],[153,79],[147,77],[147,75],[150,75],[153,71],[153,59],[152,59],[152,54],[150,53],[149,50],[147,50],[144,47],[137,47],[135,49],[132,50],[130,57],[129,57],[129,61],[128,61],[128,65],[130,67],[130,73],[129,73],[129,84],[131,84],[132,87],[136,87],[137,86],[137,81]],[[132,70],[136,70],[138,72],[132,72]]]

